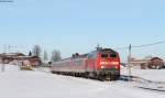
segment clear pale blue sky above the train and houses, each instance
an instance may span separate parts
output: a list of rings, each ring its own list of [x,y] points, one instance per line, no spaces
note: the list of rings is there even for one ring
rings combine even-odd
[[[123,47],[165,41],[164,0],[13,0],[0,2],[0,52],[29,53],[35,44],[63,57],[100,44]],[[165,44],[133,48],[134,57],[165,57]],[[117,50],[127,59],[128,50]]]

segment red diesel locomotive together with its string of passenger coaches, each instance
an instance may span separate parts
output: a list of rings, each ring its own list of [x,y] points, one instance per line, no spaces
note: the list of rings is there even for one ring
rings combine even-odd
[[[120,57],[111,48],[97,47],[97,51],[91,53],[77,53],[73,57],[53,63],[51,70],[54,74],[116,80],[120,77]]]

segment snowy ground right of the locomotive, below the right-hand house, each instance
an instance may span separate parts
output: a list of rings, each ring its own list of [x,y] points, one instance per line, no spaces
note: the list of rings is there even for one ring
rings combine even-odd
[[[122,75],[129,75],[128,68],[122,68]],[[132,86],[144,89],[163,90],[165,92],[165,69],[139,69],[132,68],[131,75],[139,77]]]

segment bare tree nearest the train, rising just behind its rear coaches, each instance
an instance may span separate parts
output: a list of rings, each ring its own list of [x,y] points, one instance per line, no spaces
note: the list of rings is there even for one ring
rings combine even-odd
[[[58,62],[58,61],[61,61],[62,59],[62,57],[61,57],[61,52],[59,51],[57,51],[57,50],[54,50],[53,52],[52,52],[52,56],[51,56],[51,62]]]

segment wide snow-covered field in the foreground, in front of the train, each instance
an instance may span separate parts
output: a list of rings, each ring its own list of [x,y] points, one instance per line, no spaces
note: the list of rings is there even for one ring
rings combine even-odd
[[[0,98],[155,97],[165,98],[165,92],[135,88],[132,84],[122,80],[103,83],[70,76],[54,75],[40,70],[21,72],[19,70],[19,67],[13,65],[8,65],[4,73],[0,72]]]

